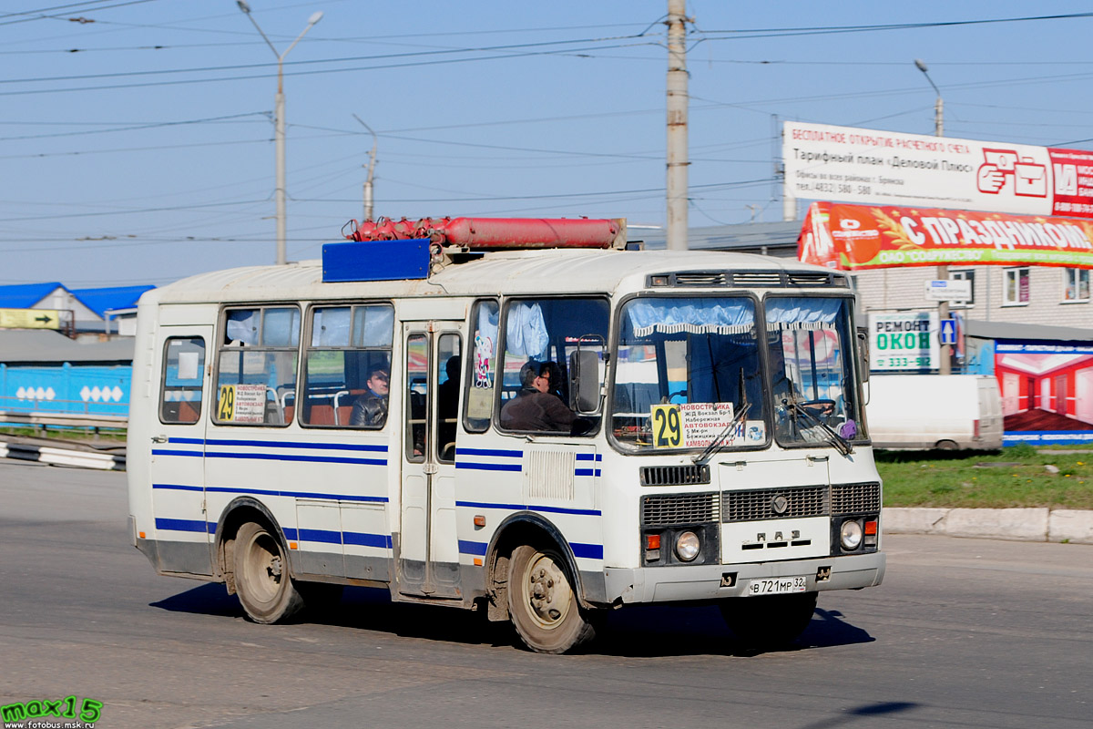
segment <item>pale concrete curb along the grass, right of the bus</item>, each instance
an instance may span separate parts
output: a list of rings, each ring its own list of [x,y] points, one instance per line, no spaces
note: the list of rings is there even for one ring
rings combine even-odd
[[[884,531],[1024,542],[1093,544],[1093,510],[884,507]]]

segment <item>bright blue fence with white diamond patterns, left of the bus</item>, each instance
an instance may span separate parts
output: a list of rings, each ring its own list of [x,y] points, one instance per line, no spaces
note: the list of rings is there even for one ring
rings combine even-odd
[[[0,410],[127,415],[131,379],[130,365],[0,364]]]

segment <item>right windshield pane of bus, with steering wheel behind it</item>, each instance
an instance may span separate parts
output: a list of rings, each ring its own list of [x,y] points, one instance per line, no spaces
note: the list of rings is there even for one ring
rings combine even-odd
[[[865,437],[851,369],[850,299],[772,296],[764,310],[778,444],[844,449]]]

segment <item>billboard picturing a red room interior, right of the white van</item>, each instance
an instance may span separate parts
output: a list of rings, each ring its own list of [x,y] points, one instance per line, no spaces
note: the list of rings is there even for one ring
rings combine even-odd
[[[995,376],[1004,445],[1093,443],[1093,345],[998,342]]]

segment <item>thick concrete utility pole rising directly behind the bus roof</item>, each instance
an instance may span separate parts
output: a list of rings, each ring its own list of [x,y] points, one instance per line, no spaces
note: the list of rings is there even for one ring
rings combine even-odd
[[[668,249],[686,250],[686,0],[668,0]]]

